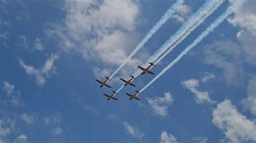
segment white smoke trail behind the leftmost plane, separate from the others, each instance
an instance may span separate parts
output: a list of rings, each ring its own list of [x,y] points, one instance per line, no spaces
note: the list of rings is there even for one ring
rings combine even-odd
[[[169,18],[171,18],[172,14],[179,8],[181,4],[183,4],[184,0],[177,0],[176,3],[174,3],[170,9],[168,9],[163,17],[157,22],[156,25],[149,31],[149,33],[146,34],[146,36],[143,38],[142,41],[139,42],[139,44],[136,46],[136,48],[133,49],[131,54],[127,56],[127,58],[124,60],[124,62],[117,68],[116,71],[110,76],[112,78],[114,75],[117,74],[117,72],[132,58],[134,54],[136,54],[140,48],[143,47],[143,45],[149,40],[154,33],[158,31],[158,29],[167,22]]]

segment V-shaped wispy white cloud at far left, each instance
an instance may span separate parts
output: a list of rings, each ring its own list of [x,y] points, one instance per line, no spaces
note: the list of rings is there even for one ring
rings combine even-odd
[[[19,65],[23,67],[26,74],[36,77],[37,85],[42,86],[46,82],[46,77],[51,73],[55,73],[54,62],[58,60],[59,57],[56,54],[52,54],[50,58],[46,59],[44,67],[42,69],[36,69],[33,66],[25,65],[24,61],[19,59]]]

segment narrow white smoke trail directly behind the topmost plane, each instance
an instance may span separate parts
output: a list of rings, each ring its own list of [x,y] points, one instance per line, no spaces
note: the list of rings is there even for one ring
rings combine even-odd
[[[178,46],[180,44],[180,42],[182,42],[185,38],[187,38],[187,36],[194,31],[195,28],[197,28],[201,23],[204,22],[204,20],[210,16],[216,9],[219,8],[219,6],[224,2],[224,0],[221,0],[219,3],[217,3],[216,5],[214,5],[213,9],[210,10],[205,16],[203,16],[202,18],[200,18],[199,22],[196,23],[192,28],[190,28],[184,35],[183,37],[181,37],[171,48],[169,48],[168,51],[166,51],[163,55],[160,56],[160,58],[154,62],[154,64],[157,64],[158,62],[160,62],[162,59],[165,58],[165,56],[167,54],[169,54],[176,46]]]

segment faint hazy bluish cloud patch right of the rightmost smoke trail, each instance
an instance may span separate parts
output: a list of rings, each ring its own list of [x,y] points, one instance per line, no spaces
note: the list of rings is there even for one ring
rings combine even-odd
[[[244,76],[241,53],[239,46],[230,40],[216,41],[204,49],[205,62],[223,69],[227,84],[239,83],[241,81],[238,79],[242,79],[241,77]]]

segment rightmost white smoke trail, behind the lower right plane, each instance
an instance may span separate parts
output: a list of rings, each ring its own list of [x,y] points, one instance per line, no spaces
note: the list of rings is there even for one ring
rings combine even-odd
[[[154,81],[156,81],[161,75],[165,73],[168,69],[170,69],[175,63],[177,63],[184,55],[187,54],[194,46],[197,46],[201,40],[203,40],[210,32],[214,31],[214,28],[218,27],[220,23],[222,23],[228,16],[233,13],[233,9],[228,8],[226,12],[224,12],[221,16],[219,16],[206,30],[199,35],[199,37],[192,42],[191,45],[187,46],[183,52],[181,52],[176,59],[174,59],[170,65],[165,67],[156,77],[153,78],[140,92],[144,91],[147,87],[149,87]]]

